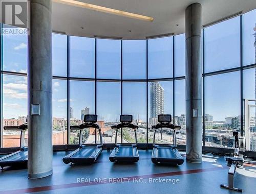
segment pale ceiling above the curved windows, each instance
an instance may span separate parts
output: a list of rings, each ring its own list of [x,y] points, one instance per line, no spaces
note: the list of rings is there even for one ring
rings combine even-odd
[[[84,3],[154,17],[153,22],[53,3],[53,31],[67,35],[145,39],[147,36],[185,32],[185,9],[202,5],[202,25],[238,12],[256,9],[255,0],[77,0]]]

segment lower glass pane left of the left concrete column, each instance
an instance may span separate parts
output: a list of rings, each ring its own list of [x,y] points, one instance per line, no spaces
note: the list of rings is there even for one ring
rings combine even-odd
[[[27,77],[3,76],[3,126],[19,126],[27,117]],[[20,131],[3,130],[3,147],[19,147]],[[25,146],[28,144],[25,132]]]

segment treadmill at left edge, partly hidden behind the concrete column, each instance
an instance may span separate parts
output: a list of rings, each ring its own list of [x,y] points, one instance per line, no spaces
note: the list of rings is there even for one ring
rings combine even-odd
[[[19,151],[0,158],[0,166],[28,167],[28,147],[25,147],[25,131],[28,129],[28,118],[26,123],[20,126],[5,126],[7,131],[20,131]]]

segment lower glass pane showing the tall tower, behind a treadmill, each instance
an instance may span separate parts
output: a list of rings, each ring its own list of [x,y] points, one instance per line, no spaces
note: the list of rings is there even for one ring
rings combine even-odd
[[[154,130],[159,114],[173,116],[173,81],[148,83],[148,142],[153,143]],[[172,118],[173,119],[173,118]],[[172,130],[163,128],[156,133],[156,143],[173,143]]]

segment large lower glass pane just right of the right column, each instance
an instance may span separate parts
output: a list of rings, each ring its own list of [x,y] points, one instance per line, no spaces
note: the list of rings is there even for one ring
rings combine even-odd
[[[241,128],[240,71],[205,77],[205,116],[205,146],[232,148]]]

